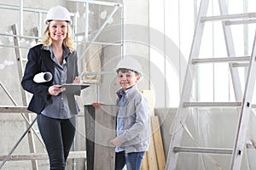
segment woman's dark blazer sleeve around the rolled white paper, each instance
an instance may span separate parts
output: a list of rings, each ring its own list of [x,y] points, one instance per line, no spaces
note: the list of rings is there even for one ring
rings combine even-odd
[[[27,63],[24,71],[24,76],[21,80],[21,86],[27,92],[37,96],[41,100],[50,98],[48,95],[49,83],[37,83],[33,81],[33,77],[42,71],[42,62],[38,48],[31,48],[27,54]],[[51,82],[52,83],[52,82]]]

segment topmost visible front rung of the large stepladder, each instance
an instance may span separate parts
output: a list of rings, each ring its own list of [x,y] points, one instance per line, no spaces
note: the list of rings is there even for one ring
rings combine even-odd
[[[256,13],[224,14],[224,15],[201,17],[201,22],[214,21],[214,20],[239,20],[239,19],[253,19],[253,18],[256,18]]]

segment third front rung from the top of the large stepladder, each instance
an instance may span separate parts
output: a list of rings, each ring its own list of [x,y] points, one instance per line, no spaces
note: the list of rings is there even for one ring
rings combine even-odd
[[[183,107],[240,107],[241,102],[184,102]]]

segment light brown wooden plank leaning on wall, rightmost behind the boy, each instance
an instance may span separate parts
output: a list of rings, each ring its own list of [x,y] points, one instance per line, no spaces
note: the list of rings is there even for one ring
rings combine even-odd
[[[151,116],[151,127],[154,139],[154,149],[156,151],[156,159],[158,164],[158,170],[164,170],[166,168],[166,156],[164,151],[164,145],[162,136],[160,133],[160,122],[158,116]]]

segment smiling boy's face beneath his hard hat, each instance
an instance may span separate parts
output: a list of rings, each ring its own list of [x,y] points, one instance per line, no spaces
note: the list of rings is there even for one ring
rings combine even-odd
[[[136,75],[134,71],[119,71],[118,82],[121,88],[124,90],[131,88],[140,80],[140,77]]]

